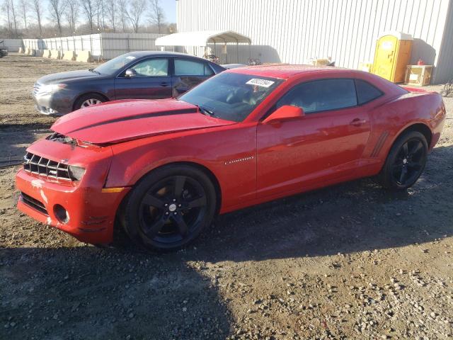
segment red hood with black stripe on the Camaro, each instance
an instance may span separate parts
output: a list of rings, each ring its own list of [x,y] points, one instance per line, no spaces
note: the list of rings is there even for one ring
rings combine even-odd
[[[52,130],[76,140],[103,145],[234,123],[203,115],[196,106],[185,101],[135,99],[74,111],[59,118]]]

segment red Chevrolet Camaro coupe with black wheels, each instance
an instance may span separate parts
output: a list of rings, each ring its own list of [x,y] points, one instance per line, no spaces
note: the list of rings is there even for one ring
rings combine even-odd
[[[440,95],[365,72],[223,72],[178,99],[84,108],[27,149],[18,208],[92,244],[115,230],[178,249],[214,215],[379,175],[412,186],[445,120]]]

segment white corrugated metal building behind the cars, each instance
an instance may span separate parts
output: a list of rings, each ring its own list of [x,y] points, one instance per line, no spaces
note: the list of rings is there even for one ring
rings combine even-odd
[[[239,62],[304,63],[331,57],[340,67],[372,62],[379,33],[413,36],[411,64],[435,65],[433,83],[453,78],[453,0],[176,0],[179,32],[233,30],[251,38]],[[212,47],[221,56],[221,46]],[[227,49],[236,62],[236,46]],[[193,47],[187,52],[199,53]]]

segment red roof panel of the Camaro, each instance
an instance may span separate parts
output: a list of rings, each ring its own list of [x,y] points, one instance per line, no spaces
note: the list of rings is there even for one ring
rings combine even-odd
[[[229,69],[228,72],[251,74],[261,77],[272,77],[280,79],[289,79],[297,74],[308,73],[338,73],[338,72],[355,72],[352,69],[343,69],[341,67],[331,66],[313,66],[313,65],[289,65],[289,64],[268,64],[259,66],[240,67]],[[358,72],[358,71],[357,71]]]

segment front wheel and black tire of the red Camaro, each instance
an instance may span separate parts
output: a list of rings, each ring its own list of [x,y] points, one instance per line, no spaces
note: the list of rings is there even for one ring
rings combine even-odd
[[[121,214],[132,241],[151,251],[173,251],[192,242],[209,226],[216,193],[209,177],[192,166],[164,166],[133,189]]]

